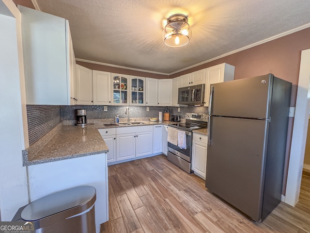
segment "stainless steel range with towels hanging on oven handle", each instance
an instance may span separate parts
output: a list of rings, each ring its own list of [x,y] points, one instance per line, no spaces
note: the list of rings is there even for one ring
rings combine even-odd
[[[187,173],[192,172],[191,160],[192,160],[193,130],[206,129],[208,124],[207,117],[208,117],[207,114],[186,113],[185,123],[175,123],[168,125],[167,159],[171,163],[185,170]],[[182,138],[183,136],[185,137],[185,139]],[[182,143],[183,141],[182,139],[184,139],[186,142],[185,147]],[[180,143],[182,144],[181,146]]]

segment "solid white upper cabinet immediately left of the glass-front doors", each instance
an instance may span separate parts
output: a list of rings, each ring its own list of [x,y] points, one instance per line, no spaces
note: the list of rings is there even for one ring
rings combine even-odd
[[[111,73],[93,70],[93,104],[111,105]]]

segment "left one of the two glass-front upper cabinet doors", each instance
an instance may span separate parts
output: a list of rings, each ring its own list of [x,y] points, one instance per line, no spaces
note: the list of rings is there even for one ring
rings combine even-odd
[[[129,104],[129,76],[111,73],[112,79],[112,105]]]

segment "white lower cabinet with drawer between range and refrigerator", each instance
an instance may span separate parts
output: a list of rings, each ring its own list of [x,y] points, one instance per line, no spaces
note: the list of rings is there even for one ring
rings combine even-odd
[[[206,135],[193,133],[192,170],[204,180],[207,166],[207,139]]]

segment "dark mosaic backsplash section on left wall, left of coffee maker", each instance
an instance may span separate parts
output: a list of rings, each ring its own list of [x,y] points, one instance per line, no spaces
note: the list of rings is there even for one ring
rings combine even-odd
[[[61,123],[61,116],[59,105],[27,105],[29,144]]]

